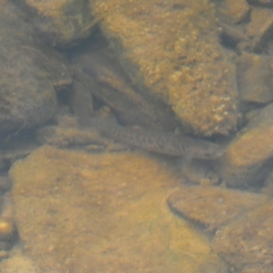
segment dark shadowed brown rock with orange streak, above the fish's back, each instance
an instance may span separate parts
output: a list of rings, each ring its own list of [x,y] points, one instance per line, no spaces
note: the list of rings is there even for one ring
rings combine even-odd
[[[74,56],[76,81],[82,85],[74,89],[74,96],[81,98],[92,93],[110,106],[118,119],[127,125],[174,129],[177,120],[171,108],[147,94],[140,94],[139,86],[126,75],[126,69],[120,66],[106,41],[97,42],[102,44],[99,48],[98,45],[88,45],[88,50]],[[75,107],[76,114],[84,121],[90,116],[83,113],[83,108],[88,107],[86,102],[86,99],[78,100],[78,107]]]

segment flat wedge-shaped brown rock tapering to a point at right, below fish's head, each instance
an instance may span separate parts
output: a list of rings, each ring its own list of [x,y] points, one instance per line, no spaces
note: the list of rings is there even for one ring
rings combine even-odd
[[[268,202],[268,197],[221,187],[182,187],[167,198],[172,210],[215,230],[248,210]]]

